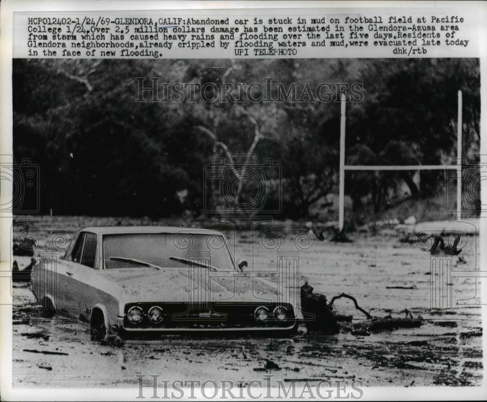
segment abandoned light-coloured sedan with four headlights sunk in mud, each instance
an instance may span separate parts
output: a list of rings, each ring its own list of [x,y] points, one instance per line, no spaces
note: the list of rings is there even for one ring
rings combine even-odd
[[[88,322],[93,340],[113,333],[295,331],[302,316],[292,292],[278,286],[276,272],[246,265],[236,264],[218,231],[90,227],[55,263],[37,263],[32,288],[46,315]]]

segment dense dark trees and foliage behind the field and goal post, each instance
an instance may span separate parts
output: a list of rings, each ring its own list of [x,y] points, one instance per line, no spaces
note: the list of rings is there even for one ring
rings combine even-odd
[[[322,82],[348,83],[350,92],[360,83],[363,99],[347,106],[347,164],[450,163],[462,90],[465,156],[480,143],[478,59],[15,59],[14,156],[40,166],[41,212],[198,216],[223,196],[245,203],[256,183],[235,180],[223,195],[204,180],[210,158],[228,163],[235,154],[281,166],[262,206],[279,209],[282,194],[281,218],[306,217],[337,192],[339,102],[266,102],[260,93],[257,101],[137,102],[136,77],[159,77],[161,90],[269,77],[286,89],[297,83],[298,92]],[[235,178],[242,166],[231,169]],[[355,206],[371,202],[378,211],[401,183],[417,196],[435,191],[443,175],[424,171],[418,184],[407,171],[349,172],[346,192]]]

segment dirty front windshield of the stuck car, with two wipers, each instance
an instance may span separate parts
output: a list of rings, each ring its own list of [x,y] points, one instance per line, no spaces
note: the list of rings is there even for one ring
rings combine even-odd
[[[142,233],[103,236],[105,269],[187,267],[233,270],[225,238],[215,234]]]

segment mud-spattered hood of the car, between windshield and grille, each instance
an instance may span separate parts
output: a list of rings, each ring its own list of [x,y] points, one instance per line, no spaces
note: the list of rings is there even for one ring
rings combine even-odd
[[[187,302],[210,300],[255,302],[282,299],[276,277],[255,277],[241,272],[215,272],[206,268],[130,268],[101,271],[138,301]],[[191,296],[191,297],[190,297]]]

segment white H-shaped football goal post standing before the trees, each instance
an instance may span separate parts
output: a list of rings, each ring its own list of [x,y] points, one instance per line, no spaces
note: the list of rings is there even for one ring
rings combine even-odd
[[[338,229],[343,230],[345,214],[345,170],[457,170],[457,219],[462,218],[462,91],[458,91],[457,112],[457,159],[456,164],[418,164],[418,165],[346,165],[345,164],[345,122],[346,105],[345,94],[340,96],[340,178],[338,203]]]

